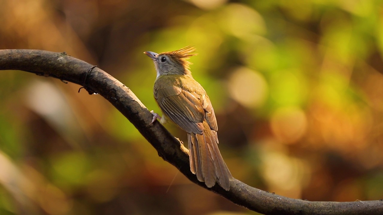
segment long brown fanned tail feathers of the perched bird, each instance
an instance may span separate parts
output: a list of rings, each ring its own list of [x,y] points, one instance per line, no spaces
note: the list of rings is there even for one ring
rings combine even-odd
[[[203,134],[188,134],[190,170],[196,174],[199,181],[204,181],[207,187],[213,187],[218,182],[228,191],[229,179],[232,176],[219,152],[217,132],[211,130],[206,122],[203,124]]]

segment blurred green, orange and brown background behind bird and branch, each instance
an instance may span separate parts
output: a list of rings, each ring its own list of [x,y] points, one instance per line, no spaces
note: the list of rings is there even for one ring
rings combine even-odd
[[[98,65],[149,110],[144,51],[193,45],[232,175],[312,201],[383,196],[377,0],[3,0],[0,49]],[[0,214],[257,214],[191,183],[100,95],[0,71]],[[186,141],[186,133],[166,127]]]

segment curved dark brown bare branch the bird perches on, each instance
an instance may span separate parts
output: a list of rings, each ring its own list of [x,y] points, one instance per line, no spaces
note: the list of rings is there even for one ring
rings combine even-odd
[[[23,70],[45,77],[54,77],[84,86],[96,92],[117,108],[157,150],[158,155],[179,169],[190,181],[216,192],[231,202],[263,214],[380,215],[383,200],[356,202],[311,202],[291,199],[250,187],[234,179],[230,191],[218,185],[208,188],[190,172],[188,150],[161,124],[149,125],[152,114],[120,81],[100,68],[70,57],[65,52],[44,50],[0,50],[0,70]]]

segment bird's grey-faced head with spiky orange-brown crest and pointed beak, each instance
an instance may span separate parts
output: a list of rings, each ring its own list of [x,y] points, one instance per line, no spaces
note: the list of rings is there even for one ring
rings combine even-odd
[[[195,51],[193,46],[183,47],[172,52],[162,52],[157,54],[155,52],[144,52],[149,56],[157,71],[157,78],[161,75],[191,75],[189,65],[191,64],[187,59],[197,55],[192,54]]]

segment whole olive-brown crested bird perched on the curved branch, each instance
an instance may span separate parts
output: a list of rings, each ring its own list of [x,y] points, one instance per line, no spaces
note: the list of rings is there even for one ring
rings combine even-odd
[[[153,111],[153,121],[168,120],[188,133],[190,171],[207,187],[216,182],[229,190],[231,173],[218,149],[217,121],[209,96],[203,87],[191,76],[187,59],[195,49],[191,46],[172,52],[144,52],[157,71],[154,82],[154,98],[160,106],[163,117]]]

